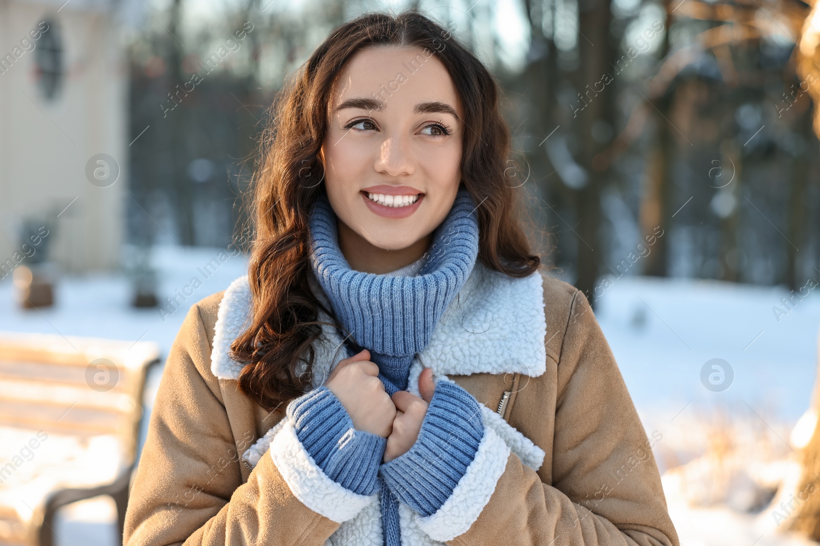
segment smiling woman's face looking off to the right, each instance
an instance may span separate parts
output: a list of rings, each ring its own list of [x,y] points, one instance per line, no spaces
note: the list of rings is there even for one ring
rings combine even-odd
[[[420,256],[453,207],[463,113],[453,80],[432,53],[368,47],[339,75],[321,160],[346,256],[411,247],[421,248]]]

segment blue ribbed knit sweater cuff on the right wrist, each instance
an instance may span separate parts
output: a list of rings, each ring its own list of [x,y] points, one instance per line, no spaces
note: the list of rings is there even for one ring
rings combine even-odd
[[[399,500],[430,516],[453,494],[483,437],[476,398],[458,384],[439,381],[416,443],[381,465],[380,475]]]

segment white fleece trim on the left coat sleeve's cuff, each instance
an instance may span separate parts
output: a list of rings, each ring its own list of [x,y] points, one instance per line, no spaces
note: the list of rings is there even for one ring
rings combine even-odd
[[[313,512],[337,523],[352,519],[378,499],[378,494],[355,494],[331,480],[307,453],[290,420],[273,436],[270,453],[294,496]]]

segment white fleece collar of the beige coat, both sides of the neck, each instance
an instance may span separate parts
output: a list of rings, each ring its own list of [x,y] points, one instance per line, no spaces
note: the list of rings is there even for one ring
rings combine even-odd
[[[315,279],[309,277],[317,298],[326,302]],[[436,375],[522,373],[538,376],[546,370],[546,318],[543,278],[539,271],[515,278],[490,271],[476,262],[471,275],[433,330],[430,344],[417,354]],[[211,353],[211,371],[220,379],[235,380],[242,364],[228,357],[230,344],[247,327],[251,316],[248,275],[225,290]],[[327,319],[324,313],[322,318]],[[344,358],[342,338],[334,328],[322,326],[323,337],[314,344],[314,386]]]

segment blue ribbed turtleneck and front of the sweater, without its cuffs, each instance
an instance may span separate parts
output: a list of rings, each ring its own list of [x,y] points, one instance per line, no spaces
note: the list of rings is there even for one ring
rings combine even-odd
[[[478,255],[475,203],[459,189],[433,232],[426,263],[415,277],[376,275],[350,268],[339,250],[336,216],[321,194],[310,217],[310,262],[336,319],[347,330],[348,356],[367,348],[387,394],[407,389],[410,365],[430,342],[435,325],[461,290]],[[385,545],[400,546],[399,500],[381,487]]]

